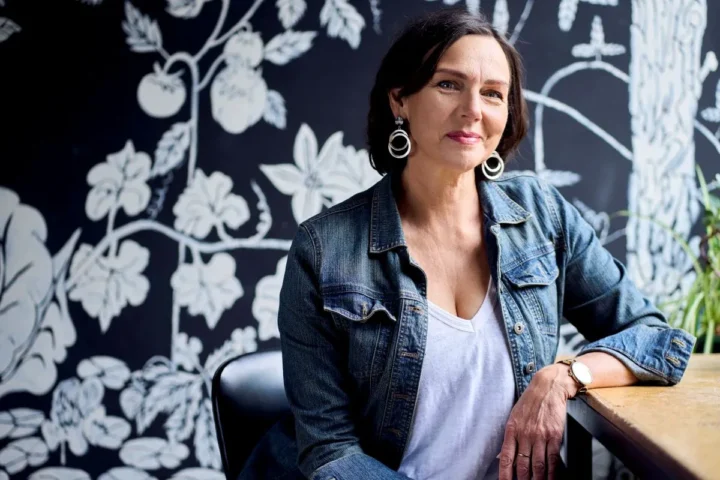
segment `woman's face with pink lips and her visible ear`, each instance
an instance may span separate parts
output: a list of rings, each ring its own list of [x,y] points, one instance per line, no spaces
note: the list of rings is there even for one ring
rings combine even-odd
[[[460,38],[420,91],[399,101],[391,95],[393,113],[410,126],[410,161],[463,172],[483,163],[505,130],[509,91],[510,66],[500,44],[483,35]]]

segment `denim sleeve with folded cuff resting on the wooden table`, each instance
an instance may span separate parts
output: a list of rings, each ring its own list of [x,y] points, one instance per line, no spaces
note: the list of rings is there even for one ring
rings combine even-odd
[[[563,315],[590,342],[580,354],[610,354],[641,382],[678,383],[695,337],[671,328],[578,210],[557,189],[543,186],[566,250]]]

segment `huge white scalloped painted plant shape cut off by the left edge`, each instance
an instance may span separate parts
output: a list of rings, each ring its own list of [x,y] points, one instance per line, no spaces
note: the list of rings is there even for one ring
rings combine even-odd
[[[46,240],[42,215],[0,187],[0,397],[48,392],[57,379],[55,363],[64,361],[66,347],[75,343],[72,321],[50,301],[54,274],[64,276],[66,268],[54,272]],[[70,252],[76,240],[68,242]]]

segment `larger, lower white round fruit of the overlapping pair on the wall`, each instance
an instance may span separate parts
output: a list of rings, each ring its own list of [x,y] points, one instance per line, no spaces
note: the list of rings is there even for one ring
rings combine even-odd
[[[228,133],[242,133],[263,116],[268,88],[262,75],[243,65],[229,65],[210,87],[213,118]]]

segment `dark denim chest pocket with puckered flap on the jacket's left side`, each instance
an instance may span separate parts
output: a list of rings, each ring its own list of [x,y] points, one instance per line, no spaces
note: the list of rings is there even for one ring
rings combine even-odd
[[[383,302],[359,292],[325,294],[323,309],[347,332],[347,362],[356,379],[382,373],[397,322],[396,302]]]

